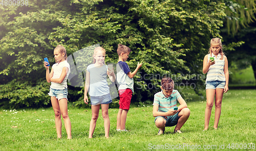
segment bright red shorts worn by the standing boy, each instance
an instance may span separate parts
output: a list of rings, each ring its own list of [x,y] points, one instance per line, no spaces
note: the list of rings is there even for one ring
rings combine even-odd
[[[133,91],[131,89],[118,90],[119,92],[119,109],[129,110]]]

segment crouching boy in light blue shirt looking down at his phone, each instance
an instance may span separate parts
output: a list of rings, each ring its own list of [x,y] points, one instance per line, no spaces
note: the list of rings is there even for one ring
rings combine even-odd
[[[161,92],[157,92],[154,96],[153,116],[155,124],[159,129],[158,135],[164,134],[165,127],[173,127],[174,133],[181,133],[180,129],[187,121],[190,110],[187,108],[185,100],[181,97],[177,90],[174,90],[174,81],[170,78],[161,80]],[[180,103],[178,110],[177,101]]]

